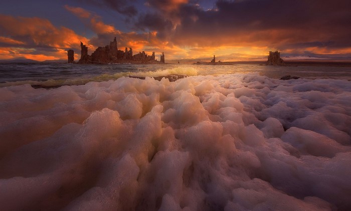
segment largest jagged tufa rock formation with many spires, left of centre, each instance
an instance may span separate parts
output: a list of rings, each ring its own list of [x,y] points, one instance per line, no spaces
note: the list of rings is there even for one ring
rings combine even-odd
[[[159,63],[155,60],[155,52],[152,52],[151,56],[148,56],[144,51],[133,55],[133,49],[126,47],[124,51],[118,50],[116,38],[105,47],[98,47],[94,53],[88,55],[88,48],[81,42],[81,58],[78,64],[108,64],[108,63],[134,63],[134,64],[145,64]],[[163,53],[162,53],[163,55]],[[164,55],[163,55],[164,61]]]

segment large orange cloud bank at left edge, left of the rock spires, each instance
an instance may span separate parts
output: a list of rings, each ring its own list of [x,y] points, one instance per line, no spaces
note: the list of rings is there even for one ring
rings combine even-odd
[[[0,15],[0,29],[6,35],[0,37],[0,46],[10,47],[5,50],[3,48],[3,52],[9,51],[14,57],[39,61],[66,59],[66,50],[78,50],[80,41],[88,42],[87,38],[77,35],[73,30],[55,27],[49,20],[41,18]],[[24,52],[26,50],[30,53]],[[0,59],[8,57],[10,56],[0,54]]]

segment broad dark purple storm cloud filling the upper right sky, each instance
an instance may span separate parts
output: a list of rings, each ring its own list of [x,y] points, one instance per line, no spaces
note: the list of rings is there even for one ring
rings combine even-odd
[[[156,12],[140,16],[136,26],[165,30],[163,34],[178,45],[351,46],[350,1],[220,0],[213,10],[204,10],[201,1],[200,5],[182,0],[147,2]],[[158,21],[150,23],[145,17]],[[173,28],[164,28],[165,23],[172,23]]]

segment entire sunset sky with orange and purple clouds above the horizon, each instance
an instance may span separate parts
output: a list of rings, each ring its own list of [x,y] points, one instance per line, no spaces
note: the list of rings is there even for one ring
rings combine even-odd
[[[80,58],[117,39],[165,60],[351,59],[346,0],[13,0],[0,3],[0,60]]]

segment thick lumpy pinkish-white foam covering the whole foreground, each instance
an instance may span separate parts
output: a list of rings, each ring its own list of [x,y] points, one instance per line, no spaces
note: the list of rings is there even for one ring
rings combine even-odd
[[[142,74],[0,88],[2,209],[351,209],[350,81]]]

